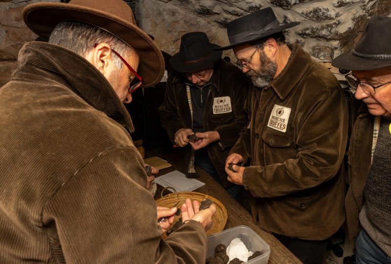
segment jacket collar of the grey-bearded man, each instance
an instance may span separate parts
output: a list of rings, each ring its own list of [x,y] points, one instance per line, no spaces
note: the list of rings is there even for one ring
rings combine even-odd
[[[296,87],[297,83],[302,80],[303,75],[308,70],[311,57],[298,45],[289,45],[292,50],[288,63],[282,72],[271,83],[281,100],[285,99],[289,92]]]

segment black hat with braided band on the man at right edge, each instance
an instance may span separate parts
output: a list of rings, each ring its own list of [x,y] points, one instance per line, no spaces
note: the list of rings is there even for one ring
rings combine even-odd
[[[391,18],[372,16],[353,51],[331,62],[346,70],[372,70],[391,66]]]

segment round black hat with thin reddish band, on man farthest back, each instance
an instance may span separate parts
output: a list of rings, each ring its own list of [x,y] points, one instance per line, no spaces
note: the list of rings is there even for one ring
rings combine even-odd
[[[204,32],[190,32],[182,36],[179,52],[170,59],[170,64],[178,72],[194,72],[213,66],[222,51],[213,50],[219,45],[209,42]]]

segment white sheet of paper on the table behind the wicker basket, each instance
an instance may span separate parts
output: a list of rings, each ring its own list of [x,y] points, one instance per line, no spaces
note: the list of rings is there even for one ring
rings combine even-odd
[[[191,192],[205,185],[202,181],[186,178],[186,175],[178,171],[159,176],[154,179],[154,182],[163,187],[173,187],[176,192]]]

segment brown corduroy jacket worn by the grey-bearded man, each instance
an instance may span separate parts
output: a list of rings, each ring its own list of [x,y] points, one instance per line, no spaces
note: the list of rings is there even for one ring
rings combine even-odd
[[[299,45],[290,47],[281,74],[249,93],[250,128],[231,153],[251,159],[243,185],[262,229],[324,240],[345,219],[348,107],[334,75]]]

